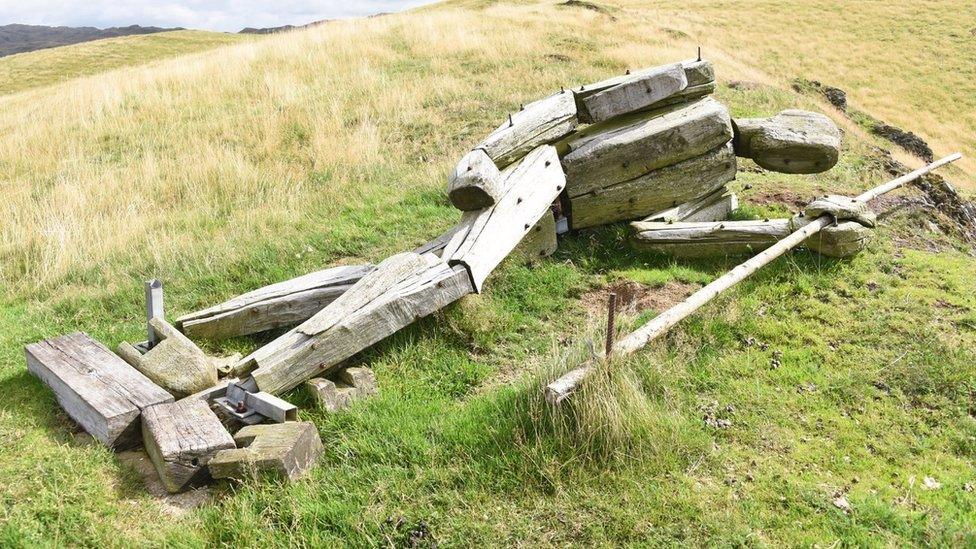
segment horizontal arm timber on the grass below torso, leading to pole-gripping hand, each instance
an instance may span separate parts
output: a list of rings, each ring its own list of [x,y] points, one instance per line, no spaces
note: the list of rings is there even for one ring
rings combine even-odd
[[[789,219],[657,223],[631,226],[635,248],[675,257],[752,254],[789,236],[797,225]]]

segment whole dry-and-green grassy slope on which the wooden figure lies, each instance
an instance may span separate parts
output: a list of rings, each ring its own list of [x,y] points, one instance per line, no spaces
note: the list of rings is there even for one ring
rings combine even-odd
[[[327,449],[308,479],[218,486],[193,510],[147,494],[133,460],[75,435],[27,374],[28,342],[140,338],[149,277],[175,316],[420,244],[457,220],[445,174],[506,112],[689,57],[683,33],[709,21],[740,37],[705,43],[720,80],[756,84],[720,86],[734,115],[818,109],[847,130],[825,174],[743,163],[747,213],[886,178],[880,141],[745,46],[765,31],[668,9],[450,3],[0,98],[0,478],[16,479],[0,485],[0,544],[976,543],[976,260],[911,208],[852,260],[779,260],[556,413],[538,380],[598,329],[589,292],[634,281],[661,301],[735,263],[634,254],[623,227],[571,235],[359,357],[376,399],[330,416],[286,395]]]

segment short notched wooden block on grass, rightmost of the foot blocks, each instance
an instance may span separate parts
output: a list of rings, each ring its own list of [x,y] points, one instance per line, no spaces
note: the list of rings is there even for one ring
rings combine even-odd
[[[315,465],[322,440],[308,421],[248,425],[234,435],[239,446],[210,460],[213,478],[244,479],[271,474],[296,480]]]

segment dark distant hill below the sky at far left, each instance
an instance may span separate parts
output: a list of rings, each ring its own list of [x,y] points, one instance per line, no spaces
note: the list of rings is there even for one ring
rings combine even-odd
[[[164,29],[159,27],[142,27],[130,25],[128,27],[111,27],[97,29],[95,27],[46,27],[43,25],[3,25],[0,26],[0,57],[24,53],[45,48],[56,48],[69,44],[78,44],[102,38],[118,38],[131,34],[153,34],[179,28]]]

